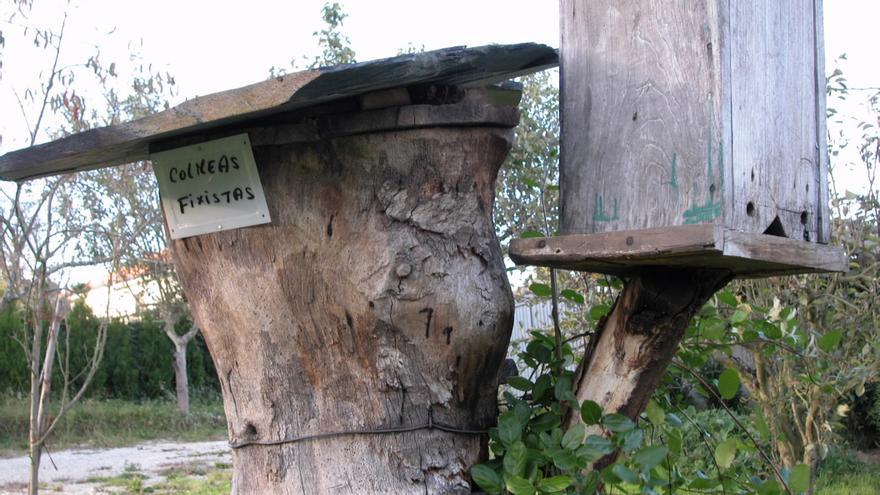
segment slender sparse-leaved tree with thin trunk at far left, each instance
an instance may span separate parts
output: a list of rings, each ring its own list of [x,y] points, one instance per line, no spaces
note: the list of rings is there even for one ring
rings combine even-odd
[[[2,15],[7,19],[26,15],[31,7],[31,2],[16,2],[4,6]],[[21,39],[33,41],[49,56],[48,70],[41,75],[37,88],[13,90],[30,146],[46,134],[57,137],[112,122],[124,110],[115,106],[115,92],[107,89],[108,79],[116,75],[115,64],[105,68],[97,55],[83,63],[62,62],[66,24],[64,14],[57,30],[22,28]],[[0,34],[0,46],[5,41]],[[83,74],[94,79],[77,77]],[[86,87],[86,93],[97,91],[105,97],[110,111],[89,109],[84,93],[78,92]],[[138,205],[116,195],[118,179],[126,173],[124,168],[88,172],[0,188],[0,269],[6,282],[0,309],[14,306],[24,320],[16,339],[27,356],[31,379],[31,494],[38,491],[40,460],[47,440],[85,394],[98,370],[107,338],[108,322],[104,318],[87,363],[71,369],[64,323],[68,312],[65,285],[70,270],[101,266],[116,273],[124,262],[122,247],[131,244],[146,225],[136,209]],[[56,369],[62,377],[60,384],[52,382]],[[53,403],[56,398],[57,403]]]

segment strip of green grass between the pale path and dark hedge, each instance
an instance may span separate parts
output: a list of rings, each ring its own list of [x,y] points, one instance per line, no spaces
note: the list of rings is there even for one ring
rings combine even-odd
[[[28,402],[0,398],[0,457],[21,455],[27,449]],[[85,400],[61,419],[49,438],[51,450],[73,446],[109,448],[147,440],[181,442],[220,440],[226,435],[226,418],[219,397],[196,400],[189,416],[176,404],[122,400]]]

